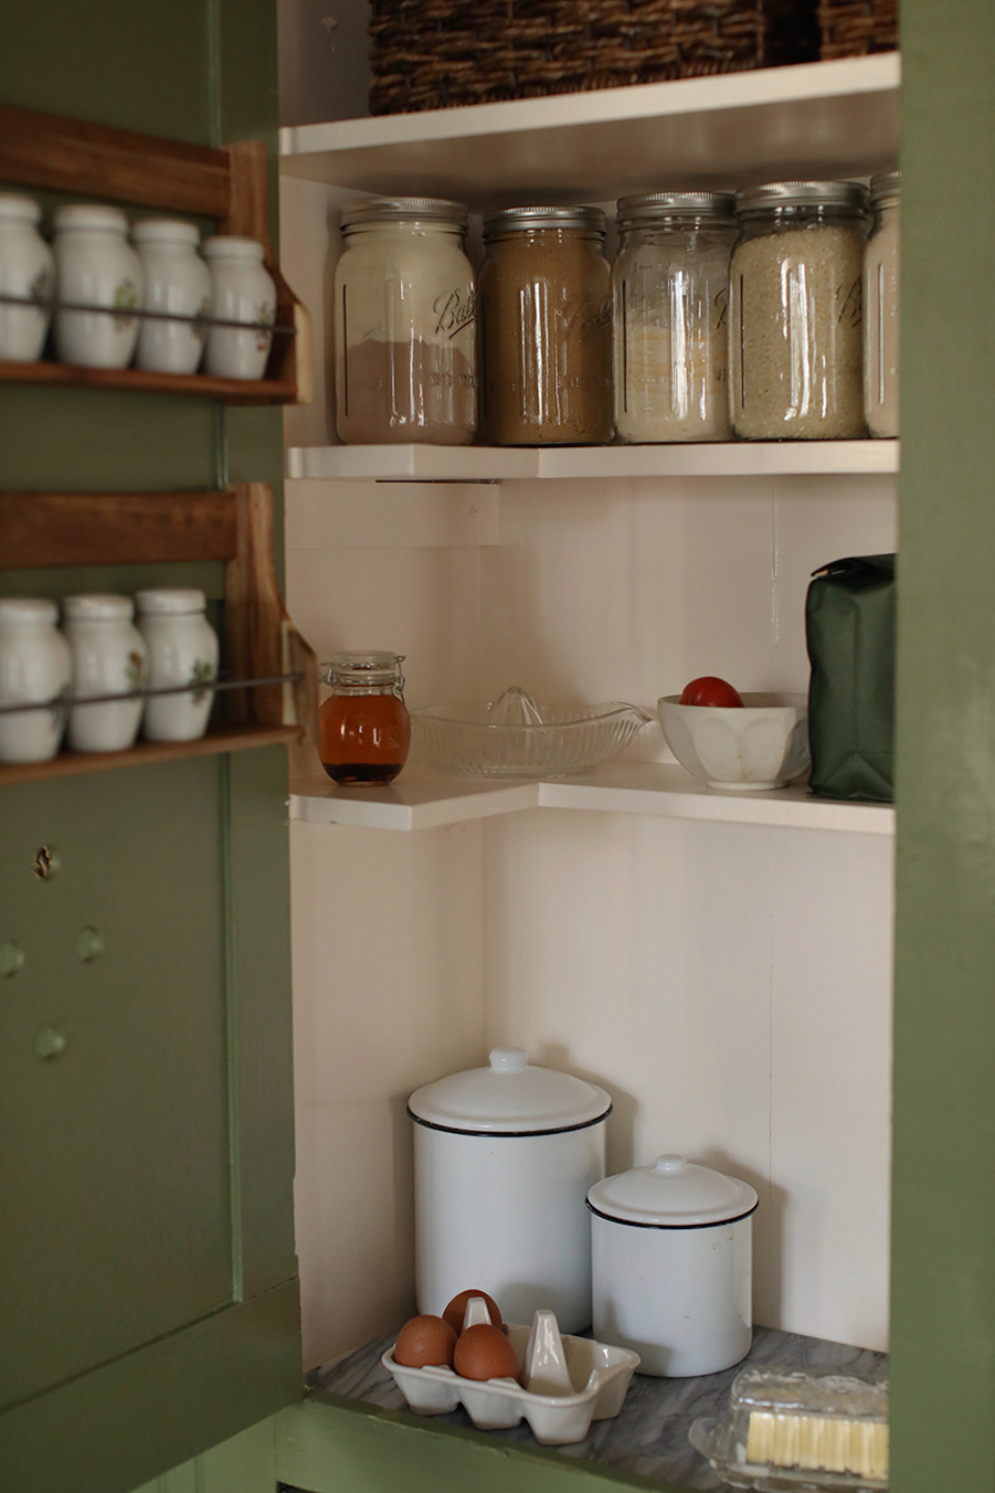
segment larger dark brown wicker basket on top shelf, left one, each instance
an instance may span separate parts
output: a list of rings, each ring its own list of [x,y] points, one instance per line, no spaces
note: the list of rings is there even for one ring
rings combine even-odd
[[[371,112],[819,57],[816,0],[372,0]]]

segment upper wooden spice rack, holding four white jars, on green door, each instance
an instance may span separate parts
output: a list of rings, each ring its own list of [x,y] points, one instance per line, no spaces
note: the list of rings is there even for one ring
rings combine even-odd
[[[311,321],[273,255],[266,211],[266,148],[261,140],[239,140],[214,149],[3,105],[0,181],[160,212],[196,213],[214,218],[218,233],[257,239],[263,245],[263,263],[276,284],[276,325],[293,328],[273,336],[261,379],[0,361],[0,382],[200,394],[227,405],[311,403]]]

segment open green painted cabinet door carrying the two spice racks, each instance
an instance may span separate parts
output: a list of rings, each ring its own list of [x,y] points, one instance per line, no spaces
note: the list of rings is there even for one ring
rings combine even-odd
[[[272,0],[39,0],[3,30],[4,103],[275,137]],[[0,387],[0,490],[279,470],[276,411]],[[0,594],[223,591],[1,566]],[[1,1489],[127,1493],[300,1396],[285,799],[279,748],[0,790]]]

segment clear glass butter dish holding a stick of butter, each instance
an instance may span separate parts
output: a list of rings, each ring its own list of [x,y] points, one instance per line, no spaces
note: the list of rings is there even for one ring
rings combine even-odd
[[[732,1381],[726,1418],[701,1417],[689,1435],[734,1489],[886,1489],[887,1380],[743,1369]]]

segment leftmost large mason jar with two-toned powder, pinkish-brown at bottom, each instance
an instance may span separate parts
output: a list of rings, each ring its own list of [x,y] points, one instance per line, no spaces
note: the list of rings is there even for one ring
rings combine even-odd
[[[341,219],[335,409],[350,445],[462,446],[477,431],[477,288],[466,208],[362,197]]]

